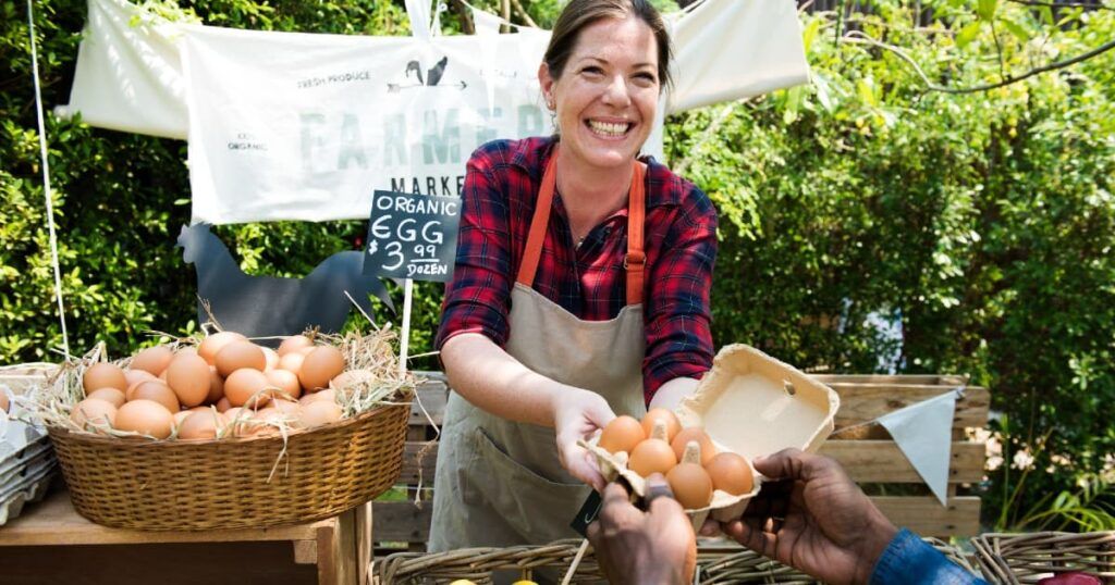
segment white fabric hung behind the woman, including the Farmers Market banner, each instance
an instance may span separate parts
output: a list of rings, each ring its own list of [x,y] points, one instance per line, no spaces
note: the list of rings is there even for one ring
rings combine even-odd
[[[417,37],[165,23],[89,0],[69,108],[188,138],[195,223],[366,218],[376,188],[456,195],[477,146],[551,131],[550,33],[430,35],[428,0],[407,4]],[[675,88],[644,152],[662,158],[667,114],[805,82],[794,6],[706,0],[673,17]]]

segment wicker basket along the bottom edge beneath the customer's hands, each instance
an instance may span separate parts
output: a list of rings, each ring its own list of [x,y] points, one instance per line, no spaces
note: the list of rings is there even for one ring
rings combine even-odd
[[[964,569],[976,573],[956,547],[938,540],[925,542]],[[380,585],[444,584],[469,579],[492,583],[495,571],[513,571],[523,578],[541,568],[564,574],[576,555],[581,540],[558,540],[545,546],[507,548],[463,548],[447,553],[396,553],[379,562]],[[590,548],[570,583],[603,583],[603,573]],[[697,579],[702,585],[725,583],[776,583],[814,585],[817,579],[776,560],[735,546],[708,546],[697,550]]]

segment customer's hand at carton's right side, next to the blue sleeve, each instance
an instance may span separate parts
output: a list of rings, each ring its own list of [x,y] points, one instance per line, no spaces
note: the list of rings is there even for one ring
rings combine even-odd
[[[754,465],[770,480],[724,532],[826,583],[867,583],[898,529],[840,465],[797,449]]]

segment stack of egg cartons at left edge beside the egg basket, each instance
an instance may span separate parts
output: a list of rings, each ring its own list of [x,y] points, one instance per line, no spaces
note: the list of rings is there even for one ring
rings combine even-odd
[[[0,526],[39,501],[58,474],[58,460],[45,428],[26,422],[19,398],[26,388],[42,382],[52,364],[0,369]],[[7,400],[4,400],[7,399]]]

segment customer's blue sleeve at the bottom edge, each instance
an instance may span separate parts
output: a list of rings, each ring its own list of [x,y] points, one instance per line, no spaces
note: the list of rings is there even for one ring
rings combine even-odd
[[[875,563],[872,585],[970,585],[981,578],[949,560],[918,535],[903,528]]]

